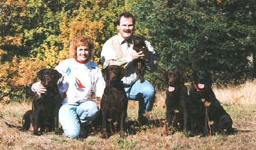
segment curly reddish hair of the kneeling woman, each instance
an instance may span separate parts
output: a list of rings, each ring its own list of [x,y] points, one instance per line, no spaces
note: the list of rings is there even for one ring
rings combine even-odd
[[[79,46],[88,46],[89,48],[88,59],[90,60],[94,54],[94,44],[92,39],[90,39],[90,37],[86,35],[75,37],[75,39],[70,42],[70,48],[69,48],[70,58],[77,58],[76,49]]]

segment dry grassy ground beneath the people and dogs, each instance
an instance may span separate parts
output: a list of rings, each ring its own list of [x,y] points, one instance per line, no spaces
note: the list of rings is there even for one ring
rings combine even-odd
[[[186,137],[181,132],[162,136],[163,128],[155,125],[137,126],[136,133],[125,139],[114,134],[107,140],[100,133],[86,138],[71,139],[63,135],[46,133],[33,136],[31,132],[20,132],[9,128],[4,121],[21,126],[22,115],[31,103],[0,104],[0,147],[2,149],[255,149],[256,147],[256,83],[225,89],[214,88],[215,95],[231,114],[235,132],[211,137]],[[151,119],[163,119],[165,94],[158,92],[151,112]],[[129,101],[128,120],[136,121],[138,102]]]

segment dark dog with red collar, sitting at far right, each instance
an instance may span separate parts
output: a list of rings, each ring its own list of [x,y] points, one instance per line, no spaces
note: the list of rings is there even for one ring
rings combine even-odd
[[[209,136],[214,131],[232,129],[232,119],[215,97],[211,88],[212,83],[207,70],[198,70],[193,73],[189,105],[192,114],[192,134],[198,131],[202,132],[203,136]]]

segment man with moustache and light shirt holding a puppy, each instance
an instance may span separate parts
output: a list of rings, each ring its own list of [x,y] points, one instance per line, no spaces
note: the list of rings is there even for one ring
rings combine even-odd
[[[130,13],[122,13],[118,17],[117,28],[118,35],[115,35],[107,40],[101,51],[101,59],[103,67],[109,65],[120,65],[125,67],[126,74],[122,81],[125,87],[128,99],[137,100],[138,93],[143,95],[144,100],[139,102],[138,119],[141,123],[147,123],[148,119],[145,113],[152,110],[153,102],[155,102],[155,89],[146,80],[140,83],[135,72],[134,59],[145,59],[142,51],[136,52],[133,50],[133,34],[134,34],[135,18]],[[153,72],[157,68],[156,52],[151,44],[145,40],[149,50],[150,60],[147,64],[147,69]]]

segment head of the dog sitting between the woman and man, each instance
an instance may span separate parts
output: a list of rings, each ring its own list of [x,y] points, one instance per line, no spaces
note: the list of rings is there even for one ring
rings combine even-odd
[[[119,83],[125,76],[125,69],[118,65],[110,65],[103,69],[103,77],[107,84]]]

